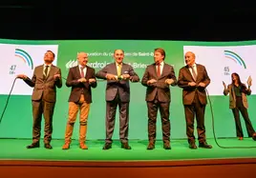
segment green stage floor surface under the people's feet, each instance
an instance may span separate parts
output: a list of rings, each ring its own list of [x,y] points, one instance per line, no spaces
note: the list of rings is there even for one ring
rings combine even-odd
[[[189,149],[186,140],[172,140],[172,149],[162,148],[162,142],[157,141],[156,148],[147,150],[147,141],[131,140],[132,149],[120,148],[118,141],[111,149],[102,150],[104,141],[87,141],[89,149],[78,148],[78,142],[73,141],[68,150],[62,150],[63,140],[53,140],[53,149],[46,149],[41,142],[41,148],[27,149],[31,140],[0,139],[0,160],[44,160],[44,161],[179,161],[225,158],[256,158],[256,141],[245,138],[218,139],[223,147],[255,147],[255,148],[219,148],[214,139],[208,139],[213,148]]]

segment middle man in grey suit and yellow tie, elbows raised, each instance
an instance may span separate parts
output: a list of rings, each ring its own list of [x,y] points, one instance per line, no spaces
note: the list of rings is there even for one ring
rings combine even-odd
[[[139,76],[132,66],[123,63],[124,51],[114,51],[115,63],[96,72],[96,77],[106,79],[106,141],[103,149],[112,148],[117,105],[119,107],[119,137],[121,148],[130,149],[128,144],[129,102],[131,82],[139,82]]]

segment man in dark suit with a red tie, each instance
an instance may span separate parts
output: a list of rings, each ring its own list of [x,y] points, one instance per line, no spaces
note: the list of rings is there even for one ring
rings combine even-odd
[[[163,148],[171,149],[169,120],[171,102],[170,85],[176,86],[177,79],[173,67],[164,63],[164,58],[164,49],[155,49],[155,63],[146,68],[141,81],[141,84],[147,87],[146,102],[148,108],[149,140],[147,149],[155,148],[158,109],[160,109]]]

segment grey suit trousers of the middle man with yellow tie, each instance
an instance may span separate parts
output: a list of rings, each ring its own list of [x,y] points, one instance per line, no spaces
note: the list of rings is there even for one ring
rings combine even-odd
[[[112,143],[112,136],[115,128],[115,120],[119,109],[119,139],[121,143],[128,142],[129,129],[129,102],[121,102],[119,93],[113,101],[106,103],[106,143]]]

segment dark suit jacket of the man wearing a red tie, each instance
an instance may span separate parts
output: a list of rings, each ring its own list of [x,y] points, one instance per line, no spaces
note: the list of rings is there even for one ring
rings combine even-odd
[[[155,79],[157,82],[147,85],[147,81],[150,79]],[[171,84],[171,86],[177,85],[175,71],[172,66],[164,63],[160,77],[157,75],[156,64],[152,64],[146,68],[141,81],[141,84],[147,87],[146,101],[153,101],[158,94],[160,102],[171,102],[170,86],[164,82],[166,79],[174,80],[174,83]]]

